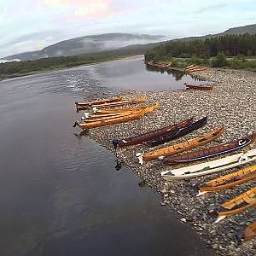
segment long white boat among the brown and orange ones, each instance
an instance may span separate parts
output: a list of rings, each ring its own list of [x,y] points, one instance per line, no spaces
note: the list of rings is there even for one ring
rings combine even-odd
[[[161,172],[166,180],[198,177],[214,172],[224,171],[256,160],[256,148],[246,153],[233,154],[218,160],[212,160],[195,166],[185,166],[172,171]]]

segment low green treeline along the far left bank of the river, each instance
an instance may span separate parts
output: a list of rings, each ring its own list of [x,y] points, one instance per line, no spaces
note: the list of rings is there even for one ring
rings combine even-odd
[[[5,62],[0,63],[0,79],[28,73],[37,73],[44,70],[76,67],[100,61],[111,61],[127,55],[144,54],[145,51],[146,50],[143,49],[143,47],[137,46],[133,48],[116,49],[95,54],[49,57],[35,61]]]

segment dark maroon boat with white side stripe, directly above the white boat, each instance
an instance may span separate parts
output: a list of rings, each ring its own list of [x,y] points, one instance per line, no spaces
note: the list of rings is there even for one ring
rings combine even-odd
[[[177,165],[183,163],[189,163],[195,160],[202,160],[208,157],[212,157],[218,154],[229,153],[239,148],[243,148],[250,143],[253,143],[256,138],[256,133],[253,132],[251,136],[237,139],[236,141],[219,144],[211,148],[205,148],[197,151],[190,152],[188,154],[174,155],[166,157],[163,161],[166,165]]]

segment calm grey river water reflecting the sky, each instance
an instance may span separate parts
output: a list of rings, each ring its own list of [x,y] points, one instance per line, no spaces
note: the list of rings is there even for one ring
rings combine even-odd
[[[84,95],[172,80],[138,58],[0,82],[1,256],[213,255],[153,189],[72,128]]]

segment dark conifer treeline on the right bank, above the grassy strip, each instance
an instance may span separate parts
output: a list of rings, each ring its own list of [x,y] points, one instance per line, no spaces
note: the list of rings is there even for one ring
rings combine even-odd
[[[224,52],[226,56],[256,55],[256,35],[230,34],[194,41],[170,41],[149,49],[145,59],[151,61],[192,56],[208,58],[218,55],[219,52]]]

